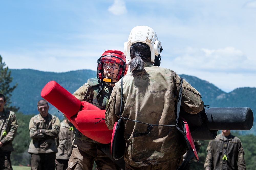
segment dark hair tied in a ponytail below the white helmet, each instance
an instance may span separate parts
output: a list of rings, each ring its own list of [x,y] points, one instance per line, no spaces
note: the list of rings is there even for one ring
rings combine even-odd
[[[130,70],[132,73],[144,70],[146,61],[150,61],[151,53],[150,47],[142,42],[137,42],[131,45],[130,48],[131,61],[129,62]]]

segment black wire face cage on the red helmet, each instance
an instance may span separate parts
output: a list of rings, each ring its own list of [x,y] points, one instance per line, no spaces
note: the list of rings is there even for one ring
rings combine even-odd
[[[122,65],[121,63],[124,63]],[[113,56],[104,55],[98,59],[97,78],[101,83],[116,83],[124,76],[124,67],[126,63],[123,59]],[[105,72],[104,72],[105,68]]]

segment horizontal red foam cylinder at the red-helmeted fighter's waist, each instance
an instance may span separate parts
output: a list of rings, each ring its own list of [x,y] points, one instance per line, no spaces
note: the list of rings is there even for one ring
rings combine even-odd
[[[80,130],[109,130],[105,123],[105,111],[82,110],[78,112],[76,118],[77,127]]]

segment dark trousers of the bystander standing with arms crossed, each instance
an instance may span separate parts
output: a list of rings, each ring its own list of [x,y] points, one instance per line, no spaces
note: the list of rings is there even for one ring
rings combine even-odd
[[[31,170],[55,170],[55,153],[31,154]]]

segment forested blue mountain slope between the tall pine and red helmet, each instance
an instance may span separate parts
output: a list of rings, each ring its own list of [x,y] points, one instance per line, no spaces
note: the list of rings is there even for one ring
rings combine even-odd
[[[12,85],[18,83],[12,93],[12,105],[20,107],[23,114],[38,114],[37,102],[42,99],[41,90],[49,81],[56,81],[70,93],[74,93],[89,78],[96,77],[92,70],[77,70],[64,73],[44,72],[32,69],[10,69]],[[51,106],[51,105],[50,105]],[[57,109],[50,107],[50,113],[57,114]]]

